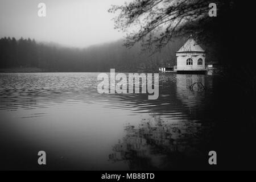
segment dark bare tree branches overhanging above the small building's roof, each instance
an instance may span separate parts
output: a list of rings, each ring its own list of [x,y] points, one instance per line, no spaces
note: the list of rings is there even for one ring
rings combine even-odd
[[[159,51],[175,37],[193,35],[205,44],[222,38],[228,27],[225,17],[234,11],[234,1],[214,1],[217,17],[209,17],[209,0],[134,0],[109,9],[118,13],[115,28],[127,32],[125,46],[141,42],[144,49]]]

